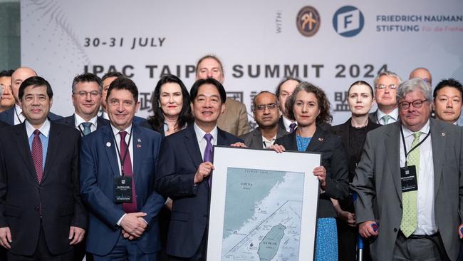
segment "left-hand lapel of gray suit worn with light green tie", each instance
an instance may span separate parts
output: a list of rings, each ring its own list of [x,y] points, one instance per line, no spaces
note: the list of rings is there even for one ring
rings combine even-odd
[[[402,185],[400,182],[400,121],[397,123],[391,123],[390,128],[392,131],[386,133],[385,138],[385,149],[386,149],[386,160],[389,162],[390,175],[394,182],[397,196],[402,200]],[[375,144],[372,144],[375,145]],[[384,175],[384,173],[383,173]]]

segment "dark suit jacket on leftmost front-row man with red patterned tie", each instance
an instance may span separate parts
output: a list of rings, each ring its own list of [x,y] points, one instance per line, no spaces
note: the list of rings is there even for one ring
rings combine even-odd
[[[43,180],[39,184],[26,124],[0,129],[0,227],[10,227],[11,252],[32,255],[42,226],[48,250],[71,250],[69,227],[87,228],[79,194],[79,132],[51,122]]]

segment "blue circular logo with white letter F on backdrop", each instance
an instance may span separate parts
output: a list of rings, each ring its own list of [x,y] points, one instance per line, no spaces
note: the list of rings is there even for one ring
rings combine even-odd
[[[344,37],[358,35],[363,29],[365,19],[362,12],[355,6],[343,6],[333,16],[335,31]]]

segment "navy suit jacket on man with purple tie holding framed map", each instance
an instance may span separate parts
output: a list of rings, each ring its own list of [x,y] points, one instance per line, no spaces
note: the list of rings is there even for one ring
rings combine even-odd
[[[217,145],[242,140],[217,128]],[[167,136],[161,145],[156,188],[173,199],[167,237],[167,254],[192,257],[207,233],[210,188],[208,178],[194,185],[194,174],[203,162],[194,124]]]

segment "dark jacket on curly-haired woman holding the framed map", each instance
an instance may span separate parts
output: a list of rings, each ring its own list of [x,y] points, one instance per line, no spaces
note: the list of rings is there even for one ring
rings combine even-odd
[[[286,150],[298,151],[296,131],[275,141]],[[336,217],[330,198],[342,200],[348,196],[348,166],[340,137],[317,126],[306,151],[321,153],[321,165],[326,169],[326,190],[318,200],[318,218]]]

